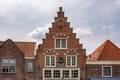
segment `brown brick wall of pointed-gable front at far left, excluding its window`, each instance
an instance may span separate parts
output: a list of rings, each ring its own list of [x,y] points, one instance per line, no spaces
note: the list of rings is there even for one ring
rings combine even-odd
[[[2,73],[2,59],[16,60],[16,73]],[[0,80],[12,79],[23,80],[24,75],[24,54],[15,46],[11,40],[7,40],[0,48]]]

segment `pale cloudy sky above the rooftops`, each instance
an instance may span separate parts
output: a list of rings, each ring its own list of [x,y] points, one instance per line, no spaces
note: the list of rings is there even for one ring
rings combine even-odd
[[[60,6],[87,55],[107,39],[120,47],[120,0],[0,0],[0,40],[41,43]]]

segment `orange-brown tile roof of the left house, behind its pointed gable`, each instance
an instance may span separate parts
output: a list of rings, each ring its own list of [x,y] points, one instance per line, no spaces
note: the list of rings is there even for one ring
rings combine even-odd
[[[5,41],[0,41],[0,46]],[[34,57],[36,54],[36,42],[14,42],[15,45],[25,54],[25,57]]]

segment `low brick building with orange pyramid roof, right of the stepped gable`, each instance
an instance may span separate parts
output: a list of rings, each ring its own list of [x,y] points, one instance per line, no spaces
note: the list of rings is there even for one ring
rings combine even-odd
[[[87,79],[120,80],[120,49],[106,40],[86,60]]]

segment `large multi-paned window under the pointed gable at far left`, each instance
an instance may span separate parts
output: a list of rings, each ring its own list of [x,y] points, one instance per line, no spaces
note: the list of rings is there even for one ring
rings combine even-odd
[[[2,60],[2,72],[3,73],[15,73],[15,59],[3,59]]]

